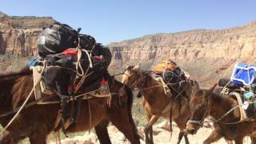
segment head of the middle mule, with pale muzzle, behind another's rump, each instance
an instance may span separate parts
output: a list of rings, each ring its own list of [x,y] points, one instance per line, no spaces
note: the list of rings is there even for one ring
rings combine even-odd
[[[126,71],[122,74],[122,83],[130,86],[131,88],[138,88],[142,85],[144,80],[140,65],[127,66]]]

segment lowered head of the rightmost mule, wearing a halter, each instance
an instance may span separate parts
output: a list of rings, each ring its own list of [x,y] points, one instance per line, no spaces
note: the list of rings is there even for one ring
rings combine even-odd
[[[186,125],[189,134],[196,134],[210,109],[210,97],[216,85],[210,90],[193,90],[190,98],[190,120]]]

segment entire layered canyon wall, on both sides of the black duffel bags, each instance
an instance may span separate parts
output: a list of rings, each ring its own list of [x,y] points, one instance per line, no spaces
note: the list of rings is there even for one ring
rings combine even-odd
[[[0,12],[0,54],[25,58],[38,54],[38,34],[54,22],[51,17],[17,17]],[[202,86],[210,86],[218,78],[230,77],[237,62],[255,64],[256,22],[224,30],[152,34],[108,46],[113,54],[111,73],[118,74],[126,65],[139,62],[144,69],[152,69],[163,59],[172,59]]]

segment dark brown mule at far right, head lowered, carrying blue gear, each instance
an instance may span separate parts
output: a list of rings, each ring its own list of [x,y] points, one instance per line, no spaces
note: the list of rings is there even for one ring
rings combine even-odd
[[[191,117],[186,126],[186,131],[189,134],[196,134],[197,130],[202,126],[202,121],[207,116],[217,120],[226,114],[227,111],[238,105],[237,100],[229,95],[214,94],[214,87],[210,90],[197,90],[196,93],[192,94],[190,99]],[[252,143],[255,144],[256,122],[239,121],[240,111],[239,109],[234,109],[234,111],[227,114],[219,122],[214,122],[214,130],[203,143],[208,144],[216,142],[220,138],[225,138],[227,140],[234,140],[236,144],[242,144],[243,138],[249,135],[251,136]],[[230,122],[238,123],[227,124]],[[254,135],[252,135],[253,133]]]

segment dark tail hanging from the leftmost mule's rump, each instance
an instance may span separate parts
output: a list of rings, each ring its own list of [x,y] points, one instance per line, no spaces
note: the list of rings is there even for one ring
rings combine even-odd
[[[128,106],[129,121],[130,121],[130,124],[134,127],[135,138],[139,139],[140,137],[138,135],[138,130],[137,130],[137,127],[135,126],[135,122],[134,122],[134,119],[133,119],[133,116],[132,116],[132,108],[133,108],[133,103],[134,103],[134,94],[128,86],[125,86],[125,90],[126,90],[126,94],[128,96],[127,106]]]

